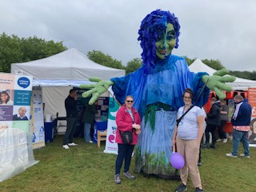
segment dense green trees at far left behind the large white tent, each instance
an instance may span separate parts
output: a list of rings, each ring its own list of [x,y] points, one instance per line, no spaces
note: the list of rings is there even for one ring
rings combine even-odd
[[[10,64],[47,58],[66,50],[62,42],[47,42],[45,39],[18,38],[17,35],[0,35],[0,71],[10,73]]]

